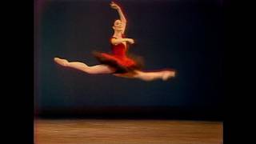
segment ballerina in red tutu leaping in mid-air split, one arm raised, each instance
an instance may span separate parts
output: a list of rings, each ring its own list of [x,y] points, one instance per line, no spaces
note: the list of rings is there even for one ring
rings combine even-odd
[[[76,70],[82,70],[86,74],[113,74],[122,78],[138,78],[143,81],[153,81],[162,79],[166,81],[175,76],[175,71],[166,70],[154,70],[143,71],[141,58],[131,58],[127,54],[127,46],[134,44],[134,39],[126,38],[126,18],[122,13],[122,9],[118,4],[111,2],[110,6],[118,11],[120,19],[114,21],[114,34],[110,38],[112,46],[112,54],[94,52],[95,58],[101,63],[96,66],[88,66],[83,62],[69,62],[63,58],[54,58],[54,62],[61,66],[74,68]]]

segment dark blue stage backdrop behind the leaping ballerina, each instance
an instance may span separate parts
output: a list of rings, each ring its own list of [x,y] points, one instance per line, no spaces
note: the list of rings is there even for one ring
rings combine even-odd
[[[93,50],[110,51],[118,13],[110,1],[46,1],[38,5],[35,46],[36,110],[83,106],[178,106],[219,108],[223,102],[222,1],[118,1],[128,20],[130,52],[145,70],[173,68],[168,82],[143,82],[110,74],[90,75],[57,66],[98,61]]]

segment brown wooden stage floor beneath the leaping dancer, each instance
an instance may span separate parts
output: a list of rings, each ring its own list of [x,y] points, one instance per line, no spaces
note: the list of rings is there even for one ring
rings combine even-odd
[[[222,122],[34,120],[35,144],[221,144]]]

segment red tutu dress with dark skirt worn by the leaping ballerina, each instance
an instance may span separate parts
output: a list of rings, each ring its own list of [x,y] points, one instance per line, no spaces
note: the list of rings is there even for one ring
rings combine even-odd
[[[123,43],[112,44],[112,54],[94,52],[94,56],[102,64],[112,66],[117,69],[116,73],[126,73],[142,68],[142,57],[128,56],[127,48]]]

